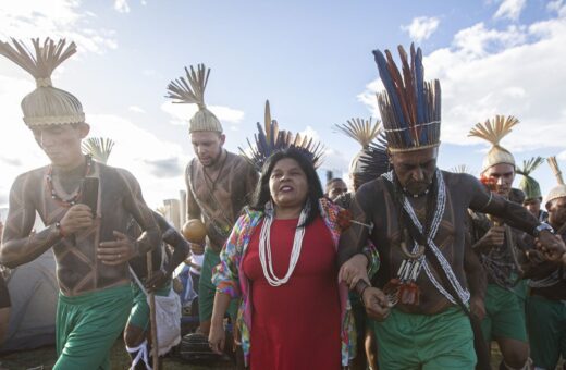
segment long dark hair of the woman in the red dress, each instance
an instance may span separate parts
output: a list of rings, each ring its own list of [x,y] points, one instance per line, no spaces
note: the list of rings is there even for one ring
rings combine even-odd
[[[266,210],[266,203],[271,199],[271,194],[269,192],[269,177],[271,177],[275,164],[285,158],[294,159],[307,176],[308,192],[306,203],[310,205],[310,210],[305,220],[305,224],[298,225],[298,227],[308,226],[312,221],[315,221],[317,215],[320,214],[319,199],[323,196],[322,185],[320,184],[320,178],[312,162],[299,150],[294,148],[275,151],[267,159],[261,169],[261,174],[256,190],[254,192],[250,208],[258,211]]]

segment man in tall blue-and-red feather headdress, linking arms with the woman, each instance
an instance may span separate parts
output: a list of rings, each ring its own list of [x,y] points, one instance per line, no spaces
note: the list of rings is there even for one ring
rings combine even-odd
[[[513,220],[539,235],[546,254],[565,248],[519,205],[490,195],[467,174],[436,169],[440,145],[440,83],[423,81],[422,54],[411,60],[399,47],[401,77],[391,53],[373,52],[385,85],[378,96],[393,171],[362,185],[350,207],[354,220],[372,223],[346,230],[340,242],[341,276],[356,285],[377,324],[378,362],[383,369],[473,369],[473,334],[464,313],[470,301],[465,262],[467,209]],[[410,65],[410,66],[409,66]],[[367,258],[356,255],[370,238],[382,264],[370,287]],[[479,267],[475,267],[478,271]],[[479,270],[481,271],[481,270]],[[459,306],[459,307],[458,307]]]

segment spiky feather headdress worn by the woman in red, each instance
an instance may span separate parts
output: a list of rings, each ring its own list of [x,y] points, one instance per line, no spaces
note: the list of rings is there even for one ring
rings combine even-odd
[[[308,136],[300,134],[293,135],[287,131],[280,131],[279,123],[271,119],[269,100],[266,101],[266,113],[263,127],[257,123],[258,133],[254,135],[255,145],[247,139],[249,148],[239,148],[242,155],[256,168],[261,171],[266,160],[275,151],[287,148],[295,148],[302,151],[318,168],[322,163],[324,147],[320,143],[315,143]]]

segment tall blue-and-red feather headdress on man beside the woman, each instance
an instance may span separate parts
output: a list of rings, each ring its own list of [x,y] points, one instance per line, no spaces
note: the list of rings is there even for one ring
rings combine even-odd
[[[424,82],[420,48],[415,51],[415,46],[410,46],[410,63],[402,46],[398,52],[403,74],[389,50],[385,50],[385,55],[380,50],[373,50],[385,86],[385,90],[378,94],[378,104],[389,150],[395,152],[435,147],[440,144],[440,82]]]

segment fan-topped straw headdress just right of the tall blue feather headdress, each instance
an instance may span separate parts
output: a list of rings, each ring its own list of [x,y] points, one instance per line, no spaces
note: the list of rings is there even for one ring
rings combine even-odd
[[[515,158],[513,155],[500,145],[512,128],[519,123],[519,120],[513,115],[495,115],[484,123],[477,123],[470,130],[468,136],[476,136],[482,138],[492,145],[488,155],[483,158],[482,172],[485,172],[490,166],[501,163],[515,165]]]

